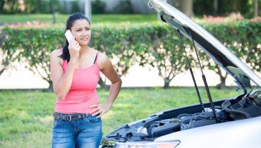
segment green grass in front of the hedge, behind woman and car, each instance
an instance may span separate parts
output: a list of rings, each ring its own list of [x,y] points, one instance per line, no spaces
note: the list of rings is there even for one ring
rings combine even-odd
[[[109,92],[98,90],[101,103]],[[200,88],[203,101],[207,94]],[[241,92],[211,88],[214,100],[233,97]],[[0,92],[0,147],[51,147],[55,94],[40,91]],[[147,118],[153,113],[198,104],[194,88],[123,89],[111,110],[102,116],[103,133]]]

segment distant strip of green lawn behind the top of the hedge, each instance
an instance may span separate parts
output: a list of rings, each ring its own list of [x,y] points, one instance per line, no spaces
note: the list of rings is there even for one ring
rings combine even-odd
[[[57,23],[66,23],[68,14],[56,14]],[[52,22],[51,14],[0,14],[0,24],[4,23],[26,23],[33,20],[42,22]],[[103,14],[92,15],[92,23],[122,23],[129,21],[130,23],[143,23],[145,21],[157,21],[157,14]]]

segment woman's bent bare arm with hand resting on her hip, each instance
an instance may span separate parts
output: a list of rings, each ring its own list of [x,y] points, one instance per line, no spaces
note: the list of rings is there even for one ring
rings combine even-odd
[[[109,111],[112,104],[114,103],[114,100],[121,90],[121,78],[118,73],[116,73],[116,70],[112,66],[109,58],[107,58],[107,56],[105,56],[104,54],[100,54],[98,65],[102,73],[111,81],[111,88],[109,90],[109,97],[105,104],[95,104],[90,106],[90,108],[95,108],[90,112],[93,113],[93,116],[99,114],[97,118],[101,117],[104,113],[107,113]]]

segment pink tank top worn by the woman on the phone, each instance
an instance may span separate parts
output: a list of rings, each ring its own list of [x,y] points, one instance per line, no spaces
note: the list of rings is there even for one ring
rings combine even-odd
[[[97,58],[95,63],[88,68],[75,68],[71,88],[64,100],[56,99],[55,112],[57,113],[90,113],[89,106],[99,104],[96,87],[99,81],[99,67]],[[66,72],[68,63],[63,61],[63,73]]]

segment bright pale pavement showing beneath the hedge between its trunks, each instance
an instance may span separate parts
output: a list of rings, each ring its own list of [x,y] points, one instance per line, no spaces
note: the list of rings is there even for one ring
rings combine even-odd
[[[209,86],[219,84],[219,76],[211,70],[204,70]],[[199,69],[194,69],[195,79],[198,86],[204,86]],[[142,68],[135,65],[130,68],[128,74],[121,78],[122,87],[162,87],[164,81],[158,75],[157,68]],[[109,82],[107,82],[109,84]],[[190,87],[193,80],[189,71],[176,75],[170,83],[171,86]],[[228,76],[226,85],[236,85],[231,76]],[[48,88],[49,84],[41,78],[34,75],[23,65],[18,66],[18,70],[8,69],[0,77],[0,89],[42,89]]]

